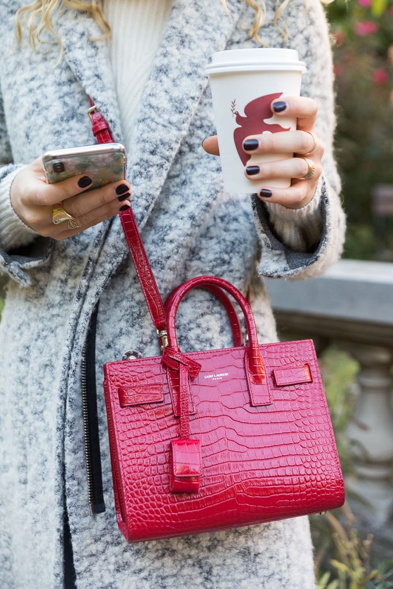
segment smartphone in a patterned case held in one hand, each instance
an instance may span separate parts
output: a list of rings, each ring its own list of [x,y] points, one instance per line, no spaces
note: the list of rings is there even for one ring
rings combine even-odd
[[[49,184],[67,180],[71,176],[86,174],[93,178],[87,190],[124,180],[126,177],[126,148],[121,143],[83,145],[47,151],[42,155],[45,178]]]

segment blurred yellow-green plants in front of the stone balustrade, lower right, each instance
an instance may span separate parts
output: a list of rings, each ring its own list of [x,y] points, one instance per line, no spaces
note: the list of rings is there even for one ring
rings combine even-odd
[[[331,346],[319,358],[326,399],[332,418],[344,475],[352,471],[345,429],[356,400],[355,376],[359,364]],[[312,515],[317,589],[393,588],[393,558],[378,560],[372,554],[372,534],[361,538],[356,519],[346,503],[325,515]]]

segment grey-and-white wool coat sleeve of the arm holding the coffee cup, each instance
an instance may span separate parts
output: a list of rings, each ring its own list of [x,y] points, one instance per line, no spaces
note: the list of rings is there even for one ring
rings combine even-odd
[[[303,209],[265,203],[255,195],[253,210],[261,244],[259,273],[272,278],[306,279],[325,272],[341,256],[345,215],[333,158],[333,63],[325,12],[319,0],[311,0],[308,8],[303,1],[293,0],[286,11],[289,47],[298,50],[308,70],[303,75],[301,94],[318,104],[315,127],[325,147],[322,176],[311,203]]]

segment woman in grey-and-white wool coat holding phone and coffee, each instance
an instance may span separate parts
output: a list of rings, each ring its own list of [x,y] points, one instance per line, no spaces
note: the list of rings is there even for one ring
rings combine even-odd
[[[97,9],[81,11],[78,2],[58,4],[52,16],[56,14],[54,28],[63,48],[60,62],[57,44],[39,45],[35,52],[24,41],[11,52],[21,4],[12,1],[0,8],[0,263],[10,277],[0,325],[0,585],[67,586],[72,565],[67,550],[65,567],[63,559],[70,531],[78,589],[170,589],[184,583],[203,589],[311,588],[305,517],[186,538],[124,541],[114,514],[101,365],[130,348],[146,356],[158,353],[114,216],[127,206],[129,197],[123,197],[131,190],[163,297],[197,274],[224,277],[243,292],[250,287],[260,342],[277,336],[259,276],[303,279],[321,273],[339,256],[344,215],[332,156],[332,62],[322,7],[312,0],[306,10],[302,0],[292,0],[282,13],[289,46],[306,61],[308,74],[302,98],[280,100],[285,104],[279,112],[298,117],[298,131],[281,137],[289,142],[285,150],[282,143],[276,146],[278,153],[311,151],[315,172],[309,180],[293,180],[286,191],[272,188],[271,196],[253,197],[255,223],[250,197],[223,193],[219,158],[200,147],[214,130],[203,69],[214,51],[257,47],[243,27],[254,18],[254,3],[227,0],[229,18],[219,0],[128,0],[121,6],[118,0],[105,0],[104,13],[113,28],[110,51],[105,42],[93,40],[102,34]],[[35,6],[42,8],[44,2]],[[288,46],[274,15],[275,8],[267,5],[259,31],[263,41]],[[41,39],[53,39],[48,28],[42,29]],[[130,52],[132,42],[136,54]],[[141,59],[145,62],[138,74]],[[132,72],[129,78],[124,66]],[[78,184],[81,177],[45,185],[39,156],[49,148],[95,143],[87,95],[100,107],[114,139],[126,144],[128,175],[127,181],[80,195],[87,182]],[[249,139],[260,140],[246,145],[257,145],[254,153],[274,150],[269,138]],[[214,137],[204,147],[217,153]],[[308,169],[300,156],[276,163],[268,173],[296,178]],[[269,190],[263,174],[262,167],[250,176],[257,180],[256,193]],[[80,228],[52,224],[57,201]],[[195,293],[181,305],[183,350],[232,345],[219,305],[206,296]],[[106,511],[92,517],[80,379],[82,349],[98,300],[98,419]]]

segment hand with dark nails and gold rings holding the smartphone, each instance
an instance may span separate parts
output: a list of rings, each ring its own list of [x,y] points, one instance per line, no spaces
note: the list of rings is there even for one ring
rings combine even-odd
[[[57,184],[48,184],[39,157],[16,174],[11,184],[11,204],[20,219],[40,235],[65,239],[113,217],[119,210],[125,210],[123,207],[131,206],[128,200],[130,184],[126,180],[80,194],[91,182],[86,174],[80,174]],[[67,222],[55,225],[52,221],[55,203],[62,203],[63,209],[80,227],[68,229]]]

